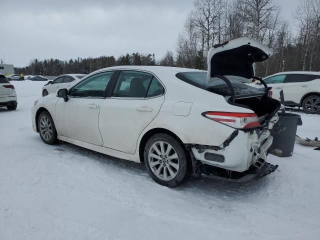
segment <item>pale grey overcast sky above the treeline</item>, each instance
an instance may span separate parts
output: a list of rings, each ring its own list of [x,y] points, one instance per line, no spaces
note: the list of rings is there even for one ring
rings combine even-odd
[[[279,0],[291,19],[298,0]],[[193,0],[0,0],[0,58],[24,66],[132,52],[159,59],[175,42]],[[291,21],[291,20],[290,20]]]

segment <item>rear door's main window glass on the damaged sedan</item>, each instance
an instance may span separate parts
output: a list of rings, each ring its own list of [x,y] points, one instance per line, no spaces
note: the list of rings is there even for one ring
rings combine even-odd
[[[145,97],[152,77],[147,72],[123,70],[118,76],[112,96]]]

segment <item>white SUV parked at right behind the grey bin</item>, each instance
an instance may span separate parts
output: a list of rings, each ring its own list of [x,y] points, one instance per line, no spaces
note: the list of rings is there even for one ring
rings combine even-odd
[[[263,78],[272,87],[272,97],[280,100],[283,90],[286,106],[302,106],[306,113],[320,113],[320,72],[286,71]]]

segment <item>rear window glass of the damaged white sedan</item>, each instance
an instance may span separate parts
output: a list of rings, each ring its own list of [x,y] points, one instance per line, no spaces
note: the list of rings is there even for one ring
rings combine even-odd
[[[210,81],[207,81],[206,75],[207,73],[205,71],[189,71],[179,72],[175,76],[182,81],[204,90],[214,92],[222,96],[230,95],[229,87],[222,79],[212,77]],[[226,77],[230,80],[232,86],[234,87],[234,93],[237,98],[264,94],[264,88],[260,90],[259,88],[247,85],[250,82],[249,79],[238,76]]]

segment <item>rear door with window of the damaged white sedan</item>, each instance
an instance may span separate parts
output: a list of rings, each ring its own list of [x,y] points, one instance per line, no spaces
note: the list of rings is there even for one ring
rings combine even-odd
[[[149,72],[121,70],[100,107],[103,146],[133,154],[142,130],[164,101],[164,87]]]

